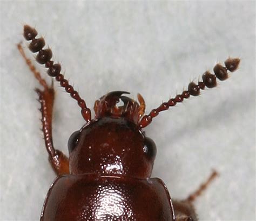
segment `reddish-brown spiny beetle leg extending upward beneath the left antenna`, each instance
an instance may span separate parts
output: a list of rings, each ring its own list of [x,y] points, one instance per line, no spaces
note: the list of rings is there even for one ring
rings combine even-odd
[[[49,87],[45,80],[42,79],[40,73],[36,70],[35,66],[32,65],[30,59],[26,58],[21,44],[18,45],[18,49],[31,72],[44,87],[44,90],[36,89],[36,92],[39,96],[38,101],[41,103],[40,111],[42,112],[42,130],[44,133],[45,147],[49,154],[50,164],[57,175],[69,174],[69,159],[58,149],[55,149],[52,142],[52,108],[55,95],[53,84]]]

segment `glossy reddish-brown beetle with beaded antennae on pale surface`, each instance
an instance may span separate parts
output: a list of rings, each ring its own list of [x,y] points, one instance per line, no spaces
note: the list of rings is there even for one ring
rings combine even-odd
[[[213,171],[208,180],[183,201],[173,201],[164,182],[150,177],[157,148],[143,129],[159,112],[190,96],[198,96],[200,90],[214,88],[217,78],[226,80],[228,72],[237,70],[240,60],[228,58],[225,67],[217,63],[214,74],[206,71],[202,81],[190,82],[187,90],[162,103],[149,115],[144,115],[142,95],[138,94],[137,102],[125,96],[129,92],[109,92],[95,102],[92,119],[84,99],[60,73],[59,63],[51,60],[51,49],[43,49],[44,38],[36,38],[37,34],[35,28],[24,25],[23,35],[30,41],[30,51],[37,53],[36,61],[77,101],[86,122],[69,138],[69,158],[53,147],[53,84],[46,83],[18,44],[19,52],[43,88],[37,88],[36,92],[41,103],[45,147],[57,174],[45,198],[40,220],[198,220],[193,201],[217,172]],[[122,106],[117,105],[120,101]]]

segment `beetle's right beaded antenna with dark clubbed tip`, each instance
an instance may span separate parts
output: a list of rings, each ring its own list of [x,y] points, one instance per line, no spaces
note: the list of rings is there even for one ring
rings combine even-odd
[[[139,126],[141,128],[146,127],[152,122],[152,118],[158,116],[160,111],[164,111],[169,109],[170,106],[175,106],[177,103],[183,102],[184,99],[187,99],[192,96],[198,96],[200,94],[200,90],[204,90],[205,87],[207,88],[214,88],[217,86],[216,77],[220,81],[224,81],[228,78],[228,71],[234,72],[237,70],[240,63],[240,59],[238,58],[228,58],[225,61],[225,67],[221,66],[219,63],[215,65],[213,68],[214,74],[206,71],[202,75],[202,80],[199,81],[198,84],[194,82],[190,82],[188,84],[187,90],[184,90],[182,94],[177,95],[175,98],[171,98],[168,102],[162,103],[158,108],[153,109],[149,115],[145,115],[139,122]]]

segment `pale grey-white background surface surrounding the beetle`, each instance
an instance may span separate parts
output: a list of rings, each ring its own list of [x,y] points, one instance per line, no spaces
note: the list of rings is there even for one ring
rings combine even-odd
[[[255,1],[1,1],[0,7],[1,220],[38,220],[55,179],[39,130],[38,83],[16,48],[26,23],[45,37],[91,108],[106,92],[126,90],[134,98],[140,92],[149,113],[216,61],[239,56],[230,79],[160,113],[146,132],[158,147],[152,176],[163,179],[172,198],[188,196],[215,168],[220,176],[195,203],[199,219],[255,220]],[[69,136],[84,121],[55,85],[53,139],[68,154]]]

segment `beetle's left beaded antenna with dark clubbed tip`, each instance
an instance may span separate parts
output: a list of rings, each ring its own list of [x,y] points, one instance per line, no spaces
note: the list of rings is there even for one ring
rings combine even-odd
[[[36,60],[41,65],[45,65],[48,68],[48,75],[51,77],[55,77],[55,80],[60,83],[60,86],[65,88],[65,91],[70,94],[70,96],[75,99],[80,106],[81,113],[86,122],[90,122],[91,120],[91,110],[87,108],[84,99],[82,99],[78,92],[73,89],[73,87],[69,84],[69,81],[66,80],[63,74],[60,74],[61,66],[59,63],[54,63],[51,61],[52,52],[51,49],[43,49],[45,46],[45,41],[43,38],[36,38],[37,31],[35,28],[30,27],[29,25],[24,26],[24,38],[27,41],[30,41],[29,49],[33,53],[37,53]]]

